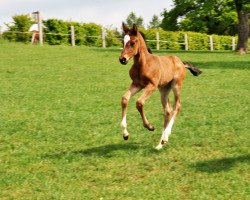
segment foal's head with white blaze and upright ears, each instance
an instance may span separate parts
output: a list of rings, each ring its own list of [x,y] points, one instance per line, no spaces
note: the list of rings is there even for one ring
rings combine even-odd
[[[122,24],[123,32],[125,34],[123,40],[123,50],[120,55],[120,62],[126,65],[130,58],[138,54],[140,48],[140,33],[137,26],[134,24],[131,29],[129,29],[124,23]]]

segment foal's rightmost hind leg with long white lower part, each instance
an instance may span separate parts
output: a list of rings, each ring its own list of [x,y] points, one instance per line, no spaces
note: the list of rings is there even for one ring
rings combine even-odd
[[[157,145],[156,149],[161,149],[163,147],[164,144],[166,144],[168,142],[168,137],[171,134],[172,131],[172,127],[174,124],[174,120],[176,118],[176,116],[178,115],[178,113],[180,112],[180,108],[181,108],[181,101],[180,101],[180,93],[181,93],[181,83],[182,81],[174,81],[172,83],[172,89],[174,92],[174,99],[175,99],[175,103],[174,103],[174,110],[173,110],[173,114],[172,117],[165,117],[165,121],[164,121],[164,129],[162,131],[162,137],[160,140],[160,143]],[[170,111],[170,104],[169,102],[166,104],[166,109],[168,109]],[[171,111],[170,111],[171,112]]]

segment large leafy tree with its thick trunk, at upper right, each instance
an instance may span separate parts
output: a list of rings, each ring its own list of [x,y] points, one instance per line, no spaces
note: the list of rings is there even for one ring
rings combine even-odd
[[[249,0],[173,0],[164,10],[161,27],[207,34],[238,34],[237,50],[245,53],[249,37]]]

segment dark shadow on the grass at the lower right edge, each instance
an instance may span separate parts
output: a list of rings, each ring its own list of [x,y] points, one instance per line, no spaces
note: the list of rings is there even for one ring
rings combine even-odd
[[[222,171],[229,171],[232,167],[239,163],[250,163],[250,154],[237,157],[225,157],[221,159],[201,161],[190,166],[196,171],[218,173]]]

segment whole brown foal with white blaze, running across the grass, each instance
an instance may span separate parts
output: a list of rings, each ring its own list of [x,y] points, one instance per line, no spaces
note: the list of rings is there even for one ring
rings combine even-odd
[[[136,108],[141,114],[143,125],[150,131],[154,127],[145,116],[144,103],[158,88],[161,93],[161,102],[164,110],[164,125],[162,136],[156,149],[161,149],[168,142],[171,129],[177,114],[180,112],[181,85],[186,76],[185,68],[198,76],[201,71],[192,64],[182,62],[176,56],[156,56],[150,54],[146,43],[134,24],[129,29],[123,24],[124,48],[120,55],[120,62],[126,65],[129,59],[134,58],[134,63],[129,71],[132,83],[128,91],[122,96],[122,134],[125,140],[128,139],[126,111],[129,99],[143,89],[142,95],[136,101]],[[170,90],[174,93],[174,108],[172,110],[168,94]]]

